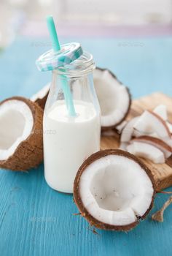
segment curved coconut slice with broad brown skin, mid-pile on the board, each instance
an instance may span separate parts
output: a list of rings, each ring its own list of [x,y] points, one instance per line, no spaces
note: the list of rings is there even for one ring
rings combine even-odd
[[[154,138],[151,136],[140,136],[138,138],[134,138],[131,140],[131,142],[148,143],[152,146],[155,146],[156,148],[159,148],[160,151],[163,151],[165,158],[171,157],[172,147],[159,138]]]

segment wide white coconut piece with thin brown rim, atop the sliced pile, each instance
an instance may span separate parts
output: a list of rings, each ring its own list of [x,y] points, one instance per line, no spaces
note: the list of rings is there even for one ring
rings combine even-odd
[[[144,111],[133,128],[144,134],[156,133],[159,138],[171,138],[171,132],[163,118],[149,110]]]

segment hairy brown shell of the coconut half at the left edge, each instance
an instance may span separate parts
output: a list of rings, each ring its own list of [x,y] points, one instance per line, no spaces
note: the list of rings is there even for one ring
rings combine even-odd
[[[0,105],[13,99],[23,101],[28,105],[34,117],[34,126],[31,135],[17,146],[14,154],[7,160],[0,160],[0,167],[10,170],[29,170],[38,166],[43,160],[43,110],[39,105],[24,97],[5,99]]]

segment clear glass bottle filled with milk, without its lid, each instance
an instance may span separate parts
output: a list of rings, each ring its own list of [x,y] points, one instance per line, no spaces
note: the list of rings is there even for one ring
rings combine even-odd
[[[44,175],[47,184],[59,192],[73,192],[79,166],[100,150],[100,108],[93,84],[94,68],[93,56],[83,52],[79,59],[52,70],[44,109]]]

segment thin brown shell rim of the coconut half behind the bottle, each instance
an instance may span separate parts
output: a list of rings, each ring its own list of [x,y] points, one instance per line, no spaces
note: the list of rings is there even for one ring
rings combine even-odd
[[[113,73],[111,70],[106,69],[106,68],[101,68],[101,67],[96,67],[96,69],[99,69],[99,70],[101,70],[101,71],[107,70],[107,71],[112,75],[112,77],[113,77],[114,79],[116,79],[121,85],[123,85],[122,82],[117,78],[116,75],[114,75],[114,73]],[[125,87],[126,87],[126,89],[127,89],[127,91],[128,91],[129,100],[130,100],[130,101],[129,101],[129,105],[128,105],[128,111],[125,113],[125,116],[123,116],[123,118],[122,118],[117,124],[112,125],[112,126],[110,126],[110,127],[101,127],[101,130],[102,130],[102,131],[106,131],[106,130],[108,130],[108,129],[114,129],[114,131],[116,132],[116,131],[117,131],[116,127],[117,127],[119,124],[121,124],[122,121],[124,121],[124,120],[127,118],[128,113],[129,113],[129,111],[130,111],[130,105],[131,105],[131,102],[132,102],[132,97],[131,97],[131,94],[130,94],[130,89],[129,89],[127,86],[125,86]]]

